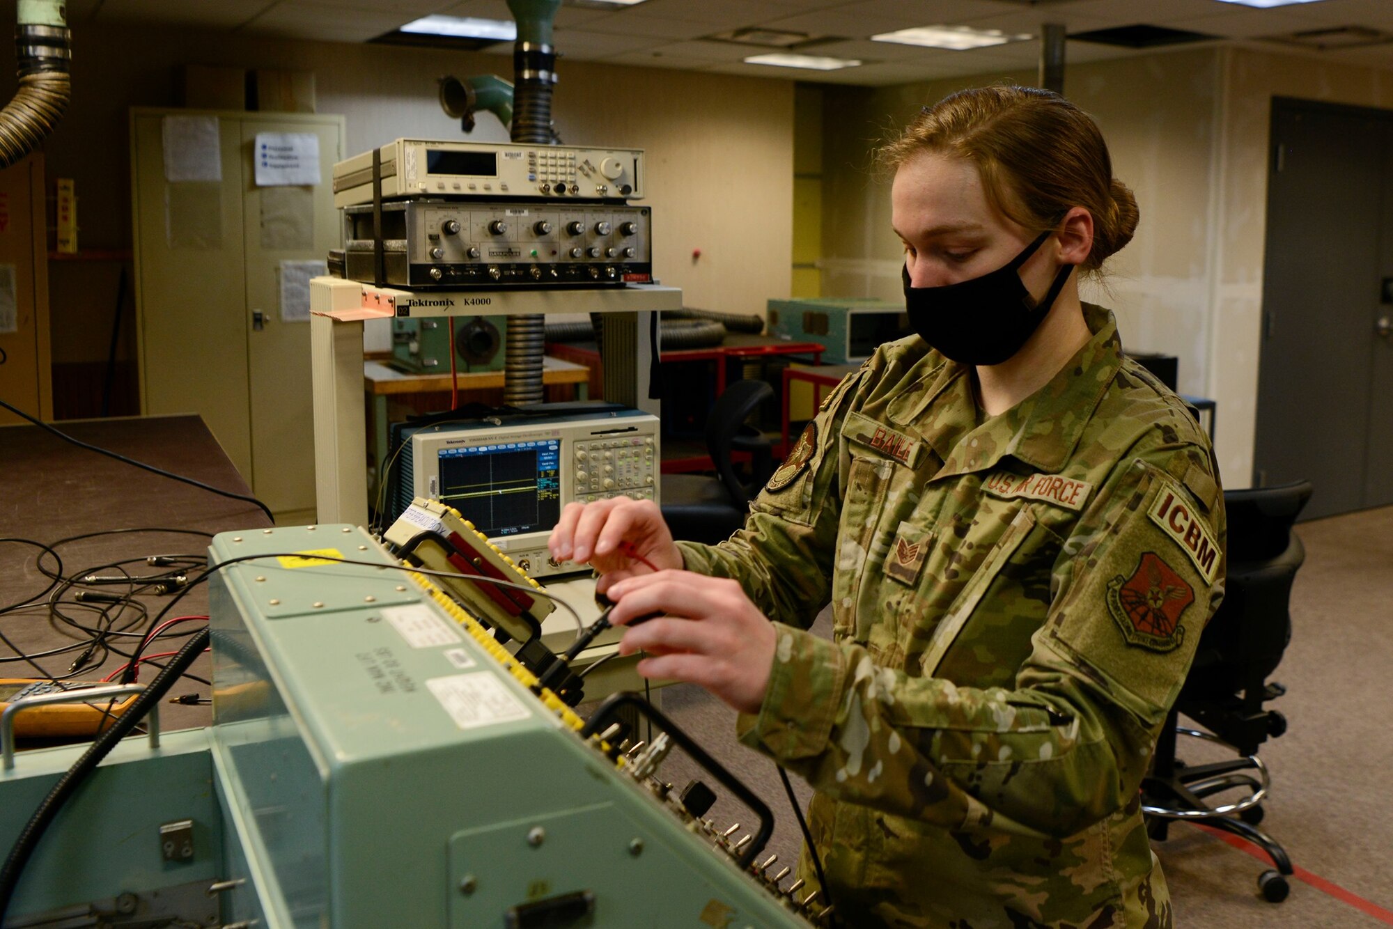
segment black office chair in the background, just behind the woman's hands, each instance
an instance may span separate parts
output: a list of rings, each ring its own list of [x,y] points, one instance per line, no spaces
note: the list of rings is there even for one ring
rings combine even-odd
[[[742,432],[742,426],[773,396],[773,387],[762,380],[737,380],[726,387],[706,418],[706,451],[716,476],[662,476],[663,520],[674,539],[716,545],[744,525],[749,500],[773,474],[773,450],[768,439],[752,429]],[[749,453],[748,475],[737,471],[733,451]]]

